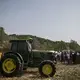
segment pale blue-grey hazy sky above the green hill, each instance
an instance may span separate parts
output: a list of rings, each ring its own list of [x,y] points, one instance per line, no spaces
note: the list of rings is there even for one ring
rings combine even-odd
[[[80,0],[0,0],[0,26],[8,34],[80,43]]]

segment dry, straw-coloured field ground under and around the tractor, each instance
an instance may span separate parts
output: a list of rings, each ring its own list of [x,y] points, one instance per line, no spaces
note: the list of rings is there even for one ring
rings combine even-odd
[[[64,65],[58,63],[56,70],[53,78],[42,78],[37,68],[28,68],[21,77],[5,78],[1,76],[0,80],[80,80],[80,64]]]

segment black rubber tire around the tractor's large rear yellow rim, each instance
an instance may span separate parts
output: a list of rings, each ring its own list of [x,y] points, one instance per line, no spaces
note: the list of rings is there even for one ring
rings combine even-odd
[[[11,59],[13,60],[13,63],[16,65],[16,68],[14,71],[12,72],[6,72],[4,70],[4,63],[7,59]],[[8,63],[7,63],[8,64]],[[21,60],[19,59],[19,57],[17,57],[15,54],[7,54],[7,55],[4,55],[1,59],[1,74],[3,76],[6,76],[6,77],[13,77],[13,76],[17,76],[21,71],[22,71],[22,68],[21,68]],[[5,67],[6,69],[6,67]],[[6,69],[7,70],[7,69]]]

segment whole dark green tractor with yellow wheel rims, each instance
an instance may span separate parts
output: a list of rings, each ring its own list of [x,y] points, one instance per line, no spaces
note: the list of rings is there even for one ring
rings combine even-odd
[[[52,59],[53,53],[32,50],[30,42],[27,40],[10,41],[10,51],[3,53],[1,57],[0,72],[3,76],[17,76],[28,67],[38,67],[41,76],[52,77],[55,74],[56,68]]]

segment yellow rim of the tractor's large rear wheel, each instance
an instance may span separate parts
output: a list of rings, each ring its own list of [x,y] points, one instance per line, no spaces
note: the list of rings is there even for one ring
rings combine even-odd
[[[2,63],[2,68],[6,73],[12,73],[16,69],[15,61],[11,58],[7,58]]]

